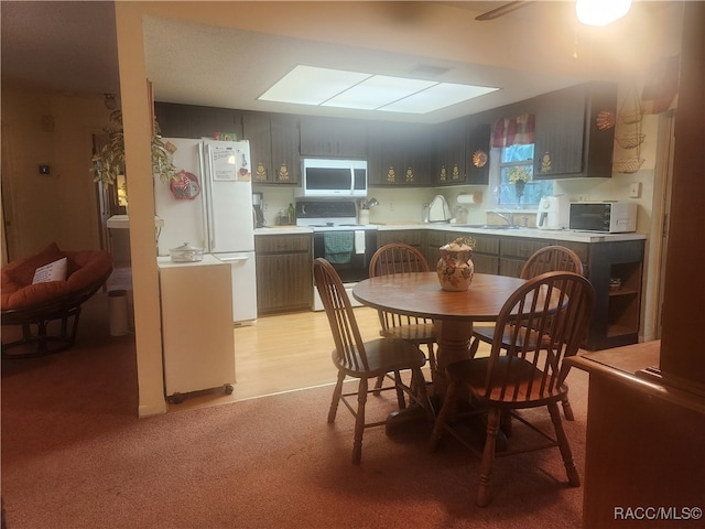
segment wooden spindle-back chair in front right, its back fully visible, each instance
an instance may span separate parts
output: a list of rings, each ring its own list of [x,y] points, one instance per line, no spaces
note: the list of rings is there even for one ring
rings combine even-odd
[[[485,507],[491,501],[490,477],[496,456],[557,446],[568,483],[575,487],[581,485],[557,403],[567,391],[567,367],[563,363],[577,353],[587,334],[594,300],[592,284],[577,273],[546,272],[531,279],[502,306],[489,357],[465,359],[446,367],[448,386],[431,435],[430,450],[437,447],[442,433],[447,430],[479,454],[479,450],[446,423],[451,411],[456,410],[458,393],[466,389],[476,407],[473,412],[488,413],[478,506]],[[509,326],[511,332],[506,333]],[[554,434],[519,413],[519,410],[543,406],[549,409]],[[510,413],[549,442],[496,453],[502,413]]]

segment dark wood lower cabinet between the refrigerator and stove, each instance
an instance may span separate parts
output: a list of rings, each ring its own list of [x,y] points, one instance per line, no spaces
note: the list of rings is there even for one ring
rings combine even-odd
[[[256,236],[254,251],[258,314],[311,310],[311,235]]]

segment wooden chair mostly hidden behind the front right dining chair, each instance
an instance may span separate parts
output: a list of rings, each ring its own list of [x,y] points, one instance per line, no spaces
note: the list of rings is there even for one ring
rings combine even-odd
[[[545,272],[575,272],[583,276],[583,262],[570,248],[564,246],[546,246],[536,250],[521,269],[521,279],[531,279]],[[476,325],[473,328],[470,357],[475,357],[481,343],[491,344],[495,336],[495,325]],[[567,391],[563,400],[563,413],[568,421],[575,420]],[[508,423],[507,423],[508,424]]]

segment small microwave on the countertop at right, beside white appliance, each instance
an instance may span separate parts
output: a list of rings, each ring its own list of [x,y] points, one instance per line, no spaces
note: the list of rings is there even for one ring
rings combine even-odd
[[[623,234],[637,230],[634,202],[572,202],[570,228]]]

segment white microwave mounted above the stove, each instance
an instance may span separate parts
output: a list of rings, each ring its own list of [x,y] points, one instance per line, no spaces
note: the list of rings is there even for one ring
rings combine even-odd
[[[308,198],[367,196],[367,160],[305,158],[294,194]]]

